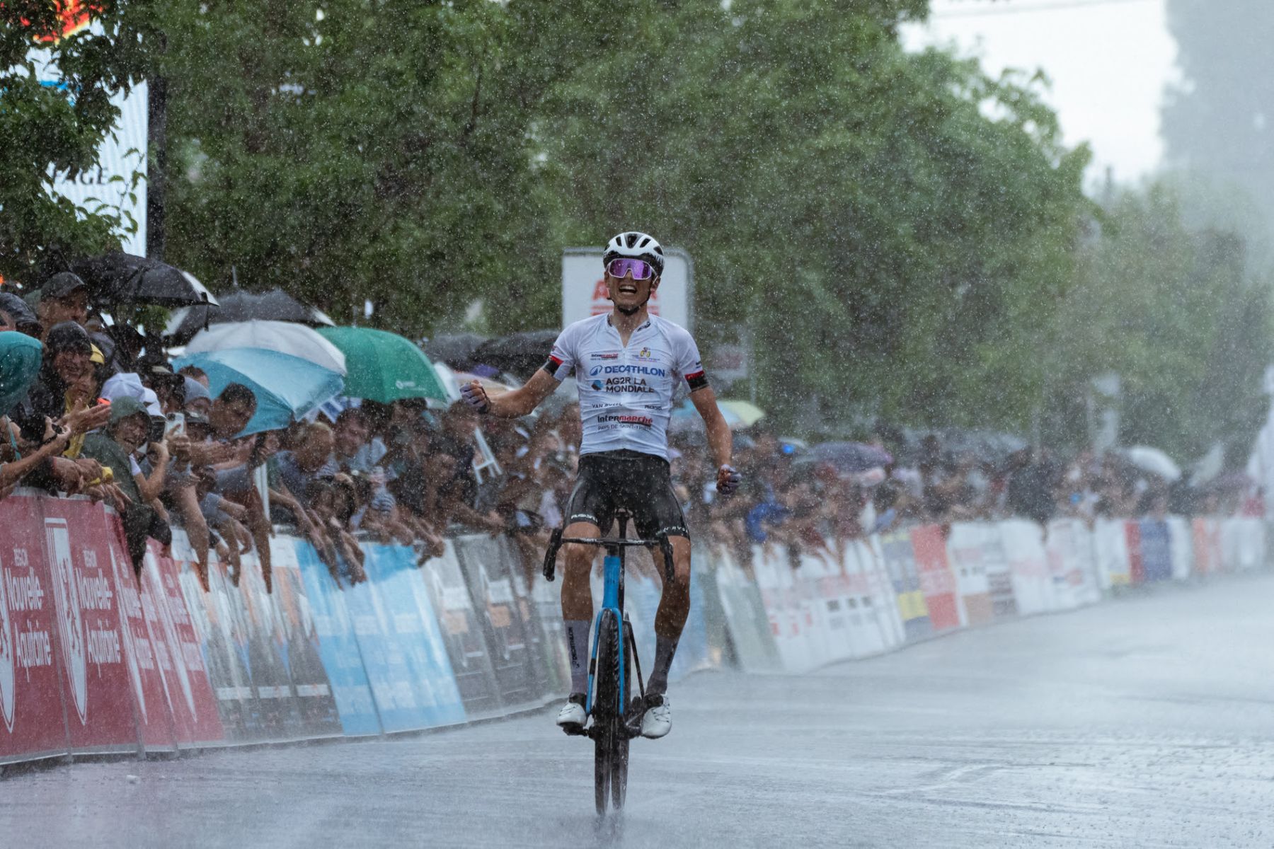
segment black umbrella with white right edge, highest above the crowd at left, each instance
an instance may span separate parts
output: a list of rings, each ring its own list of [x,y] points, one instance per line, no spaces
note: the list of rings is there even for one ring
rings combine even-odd
[[[217,298],[189,271],[167,262],[120,253],[118,251],[82,260],[71,271],[88,284],[98,303],[217,307]]]

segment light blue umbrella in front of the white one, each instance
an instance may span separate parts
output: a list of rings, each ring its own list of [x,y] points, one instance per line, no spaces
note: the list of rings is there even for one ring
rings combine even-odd
[[[172,363],[175,369],[197,365],[208,374],[209,391],[220,395],[229,383],[242,383],[256,396],[256,414],[240,435],[287,428],[320,403],[340,395],[335,372],[264,347],[231,347],[223,351],[187,354]]]

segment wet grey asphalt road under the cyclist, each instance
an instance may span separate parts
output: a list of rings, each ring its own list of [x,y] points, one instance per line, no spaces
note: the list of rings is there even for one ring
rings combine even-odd
[[[1274,846],[1274,578],[1166,588],[809,676],[710,672],[619,827],[540,712],[0,782],[5,846]],[[129,776],[134,776],[130,779]]]

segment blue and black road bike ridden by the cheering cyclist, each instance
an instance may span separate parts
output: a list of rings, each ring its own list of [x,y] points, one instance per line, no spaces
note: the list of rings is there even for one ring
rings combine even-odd
[[[605,549],[603,560],[604,588],[601,610],[592,629],[592,652],[589,656],[589,692],[585,710],[586,726],[567,729],[568,734],[589,737],[594,743],[594,794],[598,815],[609,804],[615,811],[624,807],[628,792],[628,741],[641,736],[641,719],[646,709],[646,685],[641,677],[641,658],[633,639],[632,622],[624,614],[624,549],[659,547],[664,555],[668,580],[673,578],[673,546],[666,533],[654,540],[626,538],[632,514],[620,510],[617,537],[563,537],[562,528],[553,531],[544,552],[544,577],[553,580],[557,552],[563,544],[578,542]],[[633,667],[638,696],[632,696]]]

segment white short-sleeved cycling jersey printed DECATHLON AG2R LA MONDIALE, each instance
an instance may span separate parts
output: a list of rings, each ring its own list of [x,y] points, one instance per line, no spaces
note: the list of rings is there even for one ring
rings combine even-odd
[[[544,369],[558,381],[575,372],[581,454],[627,448],[668,460],[676,381],[684,379],[692,392],[707,386],[689,332],[659,316],[642,322],[627,346],[609,313],[577,321],[558,336]]]

